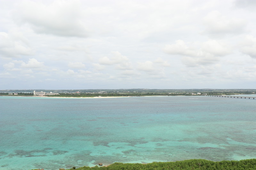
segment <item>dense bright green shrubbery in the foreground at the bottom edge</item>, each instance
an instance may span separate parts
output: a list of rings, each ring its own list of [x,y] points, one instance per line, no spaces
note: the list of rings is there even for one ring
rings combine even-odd
[[[214,162],[205,159],[190,159],[176,162],[153,162],[149,164],[114,163],[109,166],[73,167],[69,170],[255,170],[256,159]]]

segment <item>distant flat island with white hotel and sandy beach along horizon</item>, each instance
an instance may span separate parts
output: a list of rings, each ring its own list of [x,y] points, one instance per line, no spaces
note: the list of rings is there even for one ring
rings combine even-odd
[[[256,89],[77,89],[77,90],[0,90],[1,96],[49,97],[122,97],[122,96],[191,96],[255,94]]]

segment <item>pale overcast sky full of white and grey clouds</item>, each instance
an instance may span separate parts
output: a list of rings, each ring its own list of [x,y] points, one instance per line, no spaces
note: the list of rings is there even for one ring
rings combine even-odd
[[[256,89],[254,0],[0,0],[0,89]]]

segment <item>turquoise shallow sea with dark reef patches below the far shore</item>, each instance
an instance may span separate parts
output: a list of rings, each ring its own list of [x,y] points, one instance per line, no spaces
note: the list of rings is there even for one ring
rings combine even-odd
[[[255,139],[252,99],[0,96],[0,170],[252,159]]]

